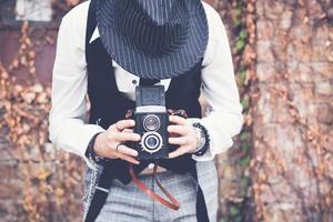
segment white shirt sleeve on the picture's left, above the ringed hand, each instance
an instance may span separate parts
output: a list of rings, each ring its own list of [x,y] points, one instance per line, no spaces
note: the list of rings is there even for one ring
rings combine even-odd
[[[60,24],[52,72],[49,139],[64,151],[80,155],[93,168],[84,153],[91,138],[103,132],[98,124],[84,123],[87,113],[87,68],[84,32],[65,16]],[[84,23],[84,22],[81,22]],[[84,24],[85,26],[85,24]]]

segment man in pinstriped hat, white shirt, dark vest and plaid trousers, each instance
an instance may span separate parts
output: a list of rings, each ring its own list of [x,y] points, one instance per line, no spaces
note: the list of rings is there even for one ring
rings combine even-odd
[[[128,145],[142,138],[132,130],[135,121],[124,118],[135,107],[135,87],[153,84],[164,85],[165,105],[175,110],[168,127],[175,150],[155,172]],[[200,92],[211,107],[204,118]],[[219,14],[200,0],[93,0],[75,7],[59,29],[49,119],[50,140],[89,165],[85,221],[215,221],[213,158],[232,145],[243,122]]]

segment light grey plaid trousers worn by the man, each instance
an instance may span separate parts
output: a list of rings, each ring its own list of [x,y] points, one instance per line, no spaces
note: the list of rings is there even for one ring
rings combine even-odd
[[[218,173],[213,161],[196,162],[199,183],[204,193],[210,222],[216,221],[218,211]],[[84,185],[85,208],[89,192],[91,170],[88,169]],[[138,178],[152,191],[164,196],[151,174],[139,174]],[[195,222],[196,185],[189,174],[171,171],[157,173],[162,185],[179,201],[180,209],[171,210],[154,201],[130,182],[124,185],[113,180],[107,203],[101,210],[97,222]]]

